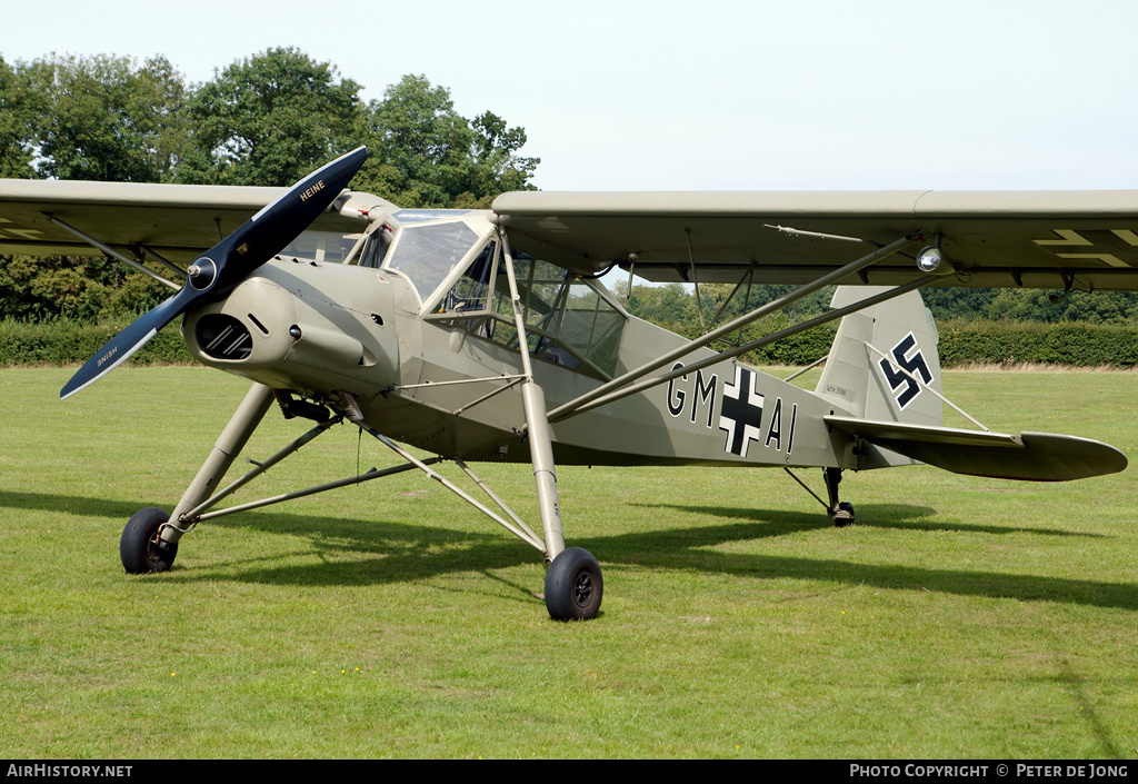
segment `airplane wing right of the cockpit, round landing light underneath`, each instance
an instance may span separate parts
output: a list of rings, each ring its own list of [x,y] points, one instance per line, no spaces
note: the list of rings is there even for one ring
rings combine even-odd
[[[516,247],[582,273],[635,260],[661,283],[803,284],[939,232],[955,267],[940,285],[1138,291],[1138,190],[518,191],[494,212]],[[918,251],[839,283],[916,279]]]

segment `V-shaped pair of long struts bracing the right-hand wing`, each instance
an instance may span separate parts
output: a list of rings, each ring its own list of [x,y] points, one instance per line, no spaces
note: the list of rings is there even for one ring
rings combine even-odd
[[[882,259],[897,253],[898,251],[904,250],[909,244],[916,242],[916,239],[917,239],[917,237],[912,236],[912,235],[906,236],[906,237],[901,237],[900,239],[897,239],[897,240],[890,243],[889,245],[884,245],[882,247],[879,247],[877,250],[875,250],[872,253],[868,253],[868,254],[861,256],[860,259],[857,259],[856,261],[851,261],[849,264],[846,264],[844,267],[842,267],[840,269],[836,269],[836,270],[834,270],[832,272],[828,272],[827,275],[823,275],[820,278],[818,278],[818,279],[816,279],[816,280],[814,280],[811,283],[808,283],[808,284],[806,284],[803,286],[799,286],[798,288],[795,288],[793,292],[786,294],[785,296],[781,296],[777,300],[772,300],[770,302],[766,303],[765,305],[756,308],[750,313],[747,313],[745,316],[740,316],[737,319],[734,319],[733,321],[731,321],[728,324],[725,324],[724,326],[719,327],[718,329],[712,329],[711,332],[707,333],[706,335],[703,335],[699,340],[685,343],[684,345],[681,345],[679,348],[674,349],[674,350],[665,353],[662,357],[660,357],[658,359],[654,359],[651,362],[648,362],[645,365],[642,365],[641,367],[636,368],[635,370],[629,370],[628,373],[626,373],[622,376],[613,378],[612,381],[610,381],[610,382],[608,382],[605,384],[601,384],[600,386],[597,386],[592,392],[586,392],[585,394],[580,395],[579,398],[576,398],[574,400],[570,400],[567,403],[563,403],[563,405],[559,406],[558,408],[555,408],[552,411],[550,411],[549,419],[550,419],[551,423],[561,422],[562,419],[566,419],[566,418],[568,418],[570,416],[574,416],[576,414],[582,414],[582,413],[587,411],[589,409],[596,408],[597,406],[603,406],[603,405],[612,402],[615,400],[619,400],[620,398],[627,397],[629,394],[634,394],[634,393],[640,392],[640,391],[642,391],[644,389],[648,389],[649,386],[653,386],[655,384],[665,383],[665,382],[669,381],[669,378],[674,378],[677,375],[684,375],[686,373],[691,373],[692,370],[699,369],[700,367],[707,367],[708,365],[715,365],[716,362],[721,362],[725,359],[729,359],[732,357],[737,357],[739,354],[742,354],[742,353],[745,353],[748,351],[751,351],[752,349],[757,349],[759,346],[766,345],[767,343],[773,343],[774,341],[782,340],[783,337],[786,337],[789,335],[797,334],[797,333],[802,332],[805,329],[810,329],[811,327],[816,327],[819,324],[825,324],[826,321],[832,321],[835,318],[840,318],[842,316],[846,316],[848,312],[853,312],[855,310],[861,310],[863,308],[867,308],[871,304],[876,304],[877,302],[883,302],[884,300],[891,299],[891,297],[900,295],[900,294],[905,294],[906,292],[910,292],[910,291],[913,291],[915,288],[918,288],[921,286],[925,286],[925,285],[927,285],[927,284],[930,284],[930,283],[932,283],[934,280],[938,280],[939,278],[937,276],[934,276],[934,275],[929,275],[929,276],[925,276],[923,278],[918,278],[917,280],[913,280],[913,281],[910,281],[908,284],[905,284],[904,286],[899,286],[897,288],[893,288],[893,289],[887,292],[883,295],[877,295],[877,296],[874,296],[874,297],[869,297],[868,300],[864,300],[863,302],[859,302],[855,307],[846,308],[846,309],[842,309],[842,310],[832,311],[832,312],[826,313],[825,316],[820,316],[820,317],[818,317],[816,319],[811,319],[809,321],[803,321],[802,324],[795,325],[793,327],[789,327],[787,329],[783,329],[783,330],[774,333],[772,335],[767,335],[766,337],[759,338],[758,341],[752,341],[752,342],[747,343],[744,345],[736,346],[736,348],[732,349],[731,351],[726,351],[726,352],[723,352],[720,354],[717,354],[716,357],[711,358],[711,360],[704,360],[704,364],[696,364],[696,365],[685,366],[682,373],[676,373],[675,375],[671,375],[671,376],[668,376],[668,375],[657,376],[654,378],[651,378],[648,382],[643,382],[642,384],[636,384],[634,386],[627,386],[628,384],[630,384],[632,382],[636,381],[637,378],[642,378],[643,376],[646,376],[650,373],[654,373],[654,371],[659,370],[660,368],[666,367],[666,366],[675,362],[677,359],[679,359],[681,357],[684,357],[684,356],[691,353],[695,349],[701,349],[701,348],[703,348],[706,345],[709,345],[714,341],[717,341],[717,340],[719,340],[721,337],[726,337],[727,335],[729,335],[731,333],[735,332],[736,329],[741,329],[742,327],[747,326],[748,324],[751,324],[752,321],[757,321],[758,319],[762,318],[764,316],[768,316],[769,313],[773,313],[776,310],[782,310],[783,308],[785,308],[786,305],[791,304],[792,302],[795,302],[795,301],[802,299],[803,296],[806,296],[808,294],[813,294],[814,292],[818,291],[819,288],[824,288],[825,286],[828,286],[830,284],[835,283],[836,280],[840,280],[841,278],[843,278],[843,277],[846,277],[848,275],[852,275],[855,272],[858,272],[859,270],[861,270],[861,269],[864,269],[866,267],[869,267],[871,264],[874,264],[877,261],[881,261]],[[522,352],[522,357],[525,357],[525,352]]]

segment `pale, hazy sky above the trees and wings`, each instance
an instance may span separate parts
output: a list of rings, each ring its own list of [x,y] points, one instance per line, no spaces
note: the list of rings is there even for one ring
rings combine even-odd
[[[1135,30],[1129,0],[53,0],[5,11],[0,56],[201,82],[296,47],[365,99],[422,74],[523,126],[543,190],[1135,188]]]

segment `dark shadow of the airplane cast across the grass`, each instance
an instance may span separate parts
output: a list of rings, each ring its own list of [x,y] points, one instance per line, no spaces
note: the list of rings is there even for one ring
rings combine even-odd
[[[43,509],[106,516],[122,520],[139,508],[137,501],[0,491],[0,507]],[[830,528],[817,514],[735,507],[661,506],[684,513],[735,520],[719,525],[662,528],[611,536],[580,537],[572,544],[601,553],[612,566],[643,566],[673,571],[736,574],[758,580],[790,578],[820,580],[893,590],[929,590],[960,596],[987,596],[1021,602],[1058,602],[1098,607],[1138,610],[1138,585],[1072,580],[1066,578],[1004,574],[954,569],[923,569],[905,565],[860,564],[851,561],[805,558],[748,553],[718,553],[708,547],[789,536]],[[897,504],[861,505],[858,525],[885,529],[958,530],[979,533],[1031,533],[1036,536],[1083,537],[1049,529],[1005,529],[987,525],[942,523],[929,507]],[[297,514],[246,513],[211,521],[209,525],[253,528],[265,533],[305,539],[310,549],[297,555],[321,556],[320,563],[266,566],[280,556],[254,556],[193,569],[175,565],[158,579],[178,582],[240,580],[278,585],[356,586],[405,582],[457,572],[481,572],[533,563],[528,549],[505,534],[487,529],[470,532],[440,526],[372,520],[345,520]],[[117,536],[117,532],[116,532]],[[351,557],[351,556],[362,557]],[[539,601],[528,590],[506,582]]]

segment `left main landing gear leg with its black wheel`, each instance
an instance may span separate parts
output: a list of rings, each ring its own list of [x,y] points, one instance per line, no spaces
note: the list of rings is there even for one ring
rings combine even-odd
[[[208,498],[217,488],[272,402],[273,391],[263,384],[254,384],[217,438],[198,475],[182,495],[182,500],[174,507],[173,514],[167,515],[157,507],[147,507],[127,521],[118,541],[123,569],[131,574],[143,574],[164,572],[171,567],[178,554],[178,540],[189,530],[181,526],[179,517]]]

